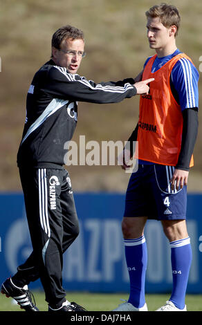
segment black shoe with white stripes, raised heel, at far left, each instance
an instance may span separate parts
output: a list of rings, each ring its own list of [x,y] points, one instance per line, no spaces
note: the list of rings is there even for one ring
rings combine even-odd
[[[19,288],[12,283],[11,278],[8,278],[5,282],[3,282],[1,286],[1,293],[3,293],[3,295],[6,295],[6,297],[12,297],[15,299],[17,301],[17,304],[19,304],[19,306],[26,311],[39,311],[39,309],[35,306],[35,298],[33,294],[28,290],[28,286]]]

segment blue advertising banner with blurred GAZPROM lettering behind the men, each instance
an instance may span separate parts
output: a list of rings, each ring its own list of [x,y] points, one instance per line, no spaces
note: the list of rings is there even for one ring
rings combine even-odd
[[[99,293],[129,291],[121,221],[124,194],[77,193],[75,204],[80,235],[64,253],[63,285],[66,290]],[[187,293],[202,293],[202,194],[188,194],[187,228],[192,243],[192,267]],[[32,251],[24,197],[0,195],[0,281],[15,274]],[[148,221],[145,228],[148,249],[147,293],[172,290],[170,248],[160,221]],[[40,281],[31,288],[42,288]]]

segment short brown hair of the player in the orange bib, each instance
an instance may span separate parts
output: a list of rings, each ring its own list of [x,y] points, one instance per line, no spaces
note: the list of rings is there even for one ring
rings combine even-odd
[[[175,6],[167,5],[167,3],[161,3],[160,5],[150,8],[147,12],[145,12],[145,15],[147,16],[147,19],[159,17],[163,26],[167,28],[175,25],[175,36],[177,35],[180,27],[181,17]]]

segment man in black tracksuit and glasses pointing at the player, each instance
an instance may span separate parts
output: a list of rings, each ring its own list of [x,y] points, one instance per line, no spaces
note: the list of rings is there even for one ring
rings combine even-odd
[[[64,26],[52,38],[52,58],[37,71],[28,89],[26,123],[17,165],[26,205],[33,252],[1,287],[28,311],[37,311],[28,294],[40,278],[50,311],[84,310],[66,300],[62,288],[62,254],[79,234],[64,144],[77,124],[77,102],[106,104],[149,91],[148,82],[126,79],[95,84],[77,75],[84,57],[81,30]]]

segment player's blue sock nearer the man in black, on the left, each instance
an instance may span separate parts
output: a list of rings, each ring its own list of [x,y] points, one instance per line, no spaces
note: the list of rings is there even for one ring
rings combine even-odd
[[[129,300],[136,308],[145,304],[145,273],[147,269],[147,244],[145,236],[125,239],[125,257],[130,279]]]

